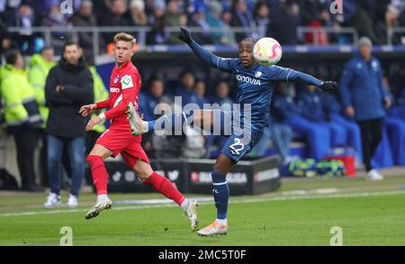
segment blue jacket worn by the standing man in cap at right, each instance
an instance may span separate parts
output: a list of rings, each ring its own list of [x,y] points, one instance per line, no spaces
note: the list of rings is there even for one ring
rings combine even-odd
[[[383,117],[386,91],[383,86],[383,70],[378,59],[372,57],[366,62],[357,56],[347,62],[340,79],[339,92],[342,106],[355,108],[356,120]]]

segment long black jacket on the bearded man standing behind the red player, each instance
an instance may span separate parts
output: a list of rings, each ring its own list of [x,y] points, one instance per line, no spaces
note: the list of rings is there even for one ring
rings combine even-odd
[[[56,86],[65,88],[58,93]],[[45,97],[49,106],[46,132],[67,138],[85,137],[88,117],[81,116],[79,109],[81,105],[92,104],[94,95],[93,77],[82,58],[76,66],[62,58],[50,69]]]

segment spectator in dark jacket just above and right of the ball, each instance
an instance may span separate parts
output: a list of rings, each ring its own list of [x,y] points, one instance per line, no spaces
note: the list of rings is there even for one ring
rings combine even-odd
[[[285,0],[280,9],[273,8],[270,13],[270,30],[282,45],[296,45],[297,27],[300,25],[300,8],[293,0]]]

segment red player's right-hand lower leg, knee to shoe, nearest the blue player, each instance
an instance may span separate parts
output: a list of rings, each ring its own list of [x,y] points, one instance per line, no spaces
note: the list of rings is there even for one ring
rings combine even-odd
[[[180,205],[184,214],[188,217],[191,230],[196,231],[198,228],[198,218],[197,218],[197,202],[190,201],[186,199],[177,188],[165,177],[157,174],[152,170],[150,165],[139,159],[133,166],[135,173],[143,180],[144,184],[154,187],[159,193],[166,196],[167,198],[175,201],[177,205]]]

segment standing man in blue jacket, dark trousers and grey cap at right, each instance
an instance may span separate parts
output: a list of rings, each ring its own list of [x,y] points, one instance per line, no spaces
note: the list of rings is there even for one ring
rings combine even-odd
[[[381,180],[383,175],[373,168],[371,159],[383,137],[384,107],[388,108],[391,100],[383,86],[380,61],[372,56],[372,48],[370,39],[360,39],[360,54],[347,63],[341,77],[340,96],[345,113],[360,126],[366,177]]]

